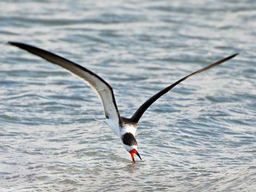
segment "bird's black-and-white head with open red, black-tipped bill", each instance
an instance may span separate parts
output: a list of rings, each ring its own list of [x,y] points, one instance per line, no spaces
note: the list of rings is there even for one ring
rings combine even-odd
[[[138,143],[132,133],[125,133],[122,136],[122,142],[126,151],[128,151],[131,154],[133,162],[135,162],[134,154],[136,154],[139,157],[139,159],[142,160],[141,156],[137,151]]]

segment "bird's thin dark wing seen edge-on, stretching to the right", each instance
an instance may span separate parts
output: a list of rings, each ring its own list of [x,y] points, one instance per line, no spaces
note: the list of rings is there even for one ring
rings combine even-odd
[[[178,84],[181,83],[182,81],[186,80],[187,78],[190,78],[190,77],[193,76],[193,75],[196,75],[197,73],[203,72],[203,71],[205,71],[205,70],[211,69],[212,67],[215,67],[215,66],[217,66],[217,65],[220,65],[221,63],[223,63],[223,62],[225,62],[225,61],[227,61],[227,60],[229,60],[229,59],[235,57],[237,54],[239,54],[239,53],[230,55],[230,56],[227,57],[227,58],[224,58],[224,59],[222,59],[222,60],[220,60],[220,61],[217,61],[216,63],[213,63],[213,64],[211,64],[211,65],[209,65],[209,66],[207,66],[207,67],[204,67],[203,69],[200,69],[200,70],[198,70],[198,71],[196,71],[196,72],[193,72],[193,73],[191,73],[190,75],[188,75],[188,76],[186,76],[186,77],[183,77],[182,79],[176,81],[176,82],[173,83],[172,85],[169,85],[169,86],[167,86],[166,88],[164,88],[163,90],[157,92],[157,94],[155,94],[154,96],[150,97],[146,102],[144,102],[144,103],[142,104],[141,107],[139,107],[139,108],[137,109],[137,111],[135,112],[135,114],[132,115],[131,120],[132,120],[133,122],[136,122],[136,123],[137,123],[137,122],[139,121],[139,119],[141,119],[141,116],[144,114],[144,112],[151,106],[151,104],[153,104],[153,103],[154,103],[156,100],[158,100],[162,95],[166,94],[168,91],[170,91],[172,88],[174,88],[174,86],[178,85]]]

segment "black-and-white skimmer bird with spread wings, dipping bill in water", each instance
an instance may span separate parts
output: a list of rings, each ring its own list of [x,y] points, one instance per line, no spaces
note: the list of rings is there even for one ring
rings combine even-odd
[[[156,100],[158,100],[161,96],[166,94],[168,91],[174,88],[174,86],[183,82],[184,80],[196,75],[197,73],[203,72],[205,70],[209,70],[212,67],[220,65],[225,61],[234,58],[237,54],[230,55],[224,59],[217,61],[216,63],[212,63],[203,69],[197,70],[190,75],[187,75],[175,83],[168,85],[166,88],[160,90],[155,95],[151,96],[147,101],[145,101],[141,107],[139,107],[136,112],[130,117],[123,117],[119,114],[117,103],[115,102],[114,92],[111,87],[104,79],[100,76],[96,75],[94,72],[86,69],[85,67],[78,65],[68,59],[60,57],[57,54],[51,53],[44,49],[24,44],[21,42],[9,41],[8,44],[24,49],[27,52],[38,55],[39,57],[50,61],[53,64],[56,64],[64,69],[68,70],[72,75],[81,78],[86,82],[97,94],[100,98],[103,113],[105,115],[105,119],[98,120],[105,122],[109,128],[113,131],[115,135],[117,135],[121,139],[121,143],[123,144],[125,150],[131,154],[132,162],[135,163],[135,154],[139,159],[142,160],[140,154],[137,151],[138,143],[135,139],[135,133],[138,128],[138,122],[141,119],[142,115],[145,111],[153,104]]]

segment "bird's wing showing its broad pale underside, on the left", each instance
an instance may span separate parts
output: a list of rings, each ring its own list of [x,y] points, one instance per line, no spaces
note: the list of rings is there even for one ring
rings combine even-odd
[[[8,42],[10,45],[14,45],[16,47],[20,47],[25,49],[26,51],[38,55],[39,57],[50,61],[53,64],[59,65],[64,69],[68,70],[70,73],[74,74],[75,76],[83,79],[88,85],[96,92],[99,96],[102,107],[104,110],[104,114],[107,118],[116,120],[119,122],[120,115],[118,112],[117,104],[115,103],[114,92],[112,87],[105,82],[101,77],[97,76],[92,71],[78,65],[68,59],[60,57],[56,54],[51,52],[45,51],[43,49],[22,44],[19,42]]]

